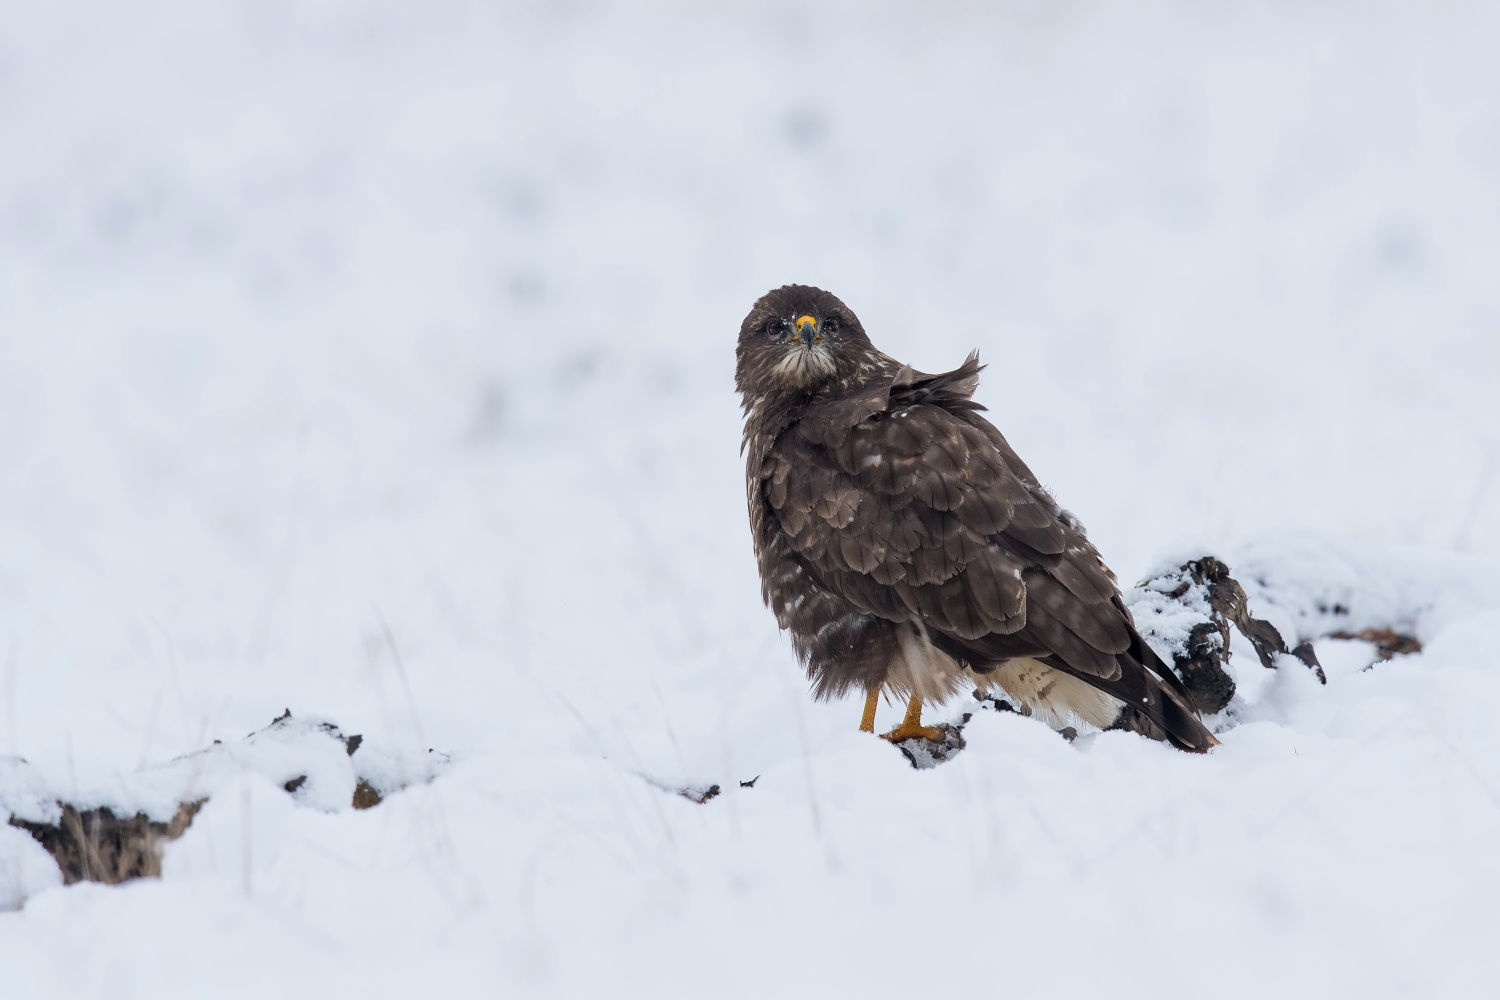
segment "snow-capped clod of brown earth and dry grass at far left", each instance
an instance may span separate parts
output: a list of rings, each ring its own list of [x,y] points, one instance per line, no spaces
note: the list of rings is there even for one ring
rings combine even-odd
[[[9,813],[10,828],[51,855],[64,883],[116,885],[159,876],[162,847],[246,772],[270,778],[300,805],[333,813],[368,810],[393,792],[430,781],[447,760],[430,750],[420,760],[393,754],[360,735],[345,736],[330,721],[292,718],[288,709],[244,739],[214,741],[122,777],[114,787],[63,795],[26,760],[0,759],[0,810]]]

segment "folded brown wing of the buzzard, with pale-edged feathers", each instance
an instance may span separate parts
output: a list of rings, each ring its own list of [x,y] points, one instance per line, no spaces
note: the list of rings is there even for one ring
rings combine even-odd
[[[762,492],[790,549],[852,607],[921,622],[975,670],[1038,657],[1138,706],[1173,742],[1212,745],[1082,525],[978,414],[978,373],[975,355],[944,375],[903,369],[777,436]]]

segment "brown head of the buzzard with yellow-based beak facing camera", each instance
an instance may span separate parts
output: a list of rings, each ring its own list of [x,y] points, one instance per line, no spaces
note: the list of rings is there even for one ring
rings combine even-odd
[[[740,324],[735,384],[746,397],[814,391],[849,375],[868,349],[864,327],[837,295],[783,285],[762,295]]]

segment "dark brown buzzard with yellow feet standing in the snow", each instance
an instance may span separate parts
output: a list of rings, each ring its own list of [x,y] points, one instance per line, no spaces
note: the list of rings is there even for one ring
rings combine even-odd
[[[1000,688],[1054,727],[1082,720],[1182,750],[1218,741],[1152,652],[1083,525],[974,402],[978,354],[924,375],[882,354],[820,288],[766,292],[740,327],[746,492],[760,594],[819,699],[922,702]]]

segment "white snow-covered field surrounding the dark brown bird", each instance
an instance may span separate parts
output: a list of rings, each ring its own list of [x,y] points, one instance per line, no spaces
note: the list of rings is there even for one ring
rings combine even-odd
[[[1484,996],[1497,45],[1482,3],[8,4],[0,813],[210,801],[117,888],[0,826],[0,996]],[[1212,552],[1424,652],[1236,648],[1206,757],[981,712],[910,769],[759,601],[732,355],[788,280],[980,348],[1125,583]],[[410,787],[332,810],[360,768]]]

